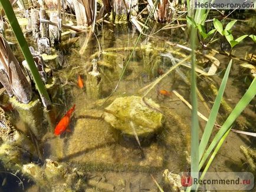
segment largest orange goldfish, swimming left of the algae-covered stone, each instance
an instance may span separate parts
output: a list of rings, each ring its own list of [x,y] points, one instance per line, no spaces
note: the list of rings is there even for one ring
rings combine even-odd
[[[70,117],[72,112],[75,110],[76,105],[73,105],[73,107],[68,110],[63,118],[61,118],[60,122],[56,125],[54,134],[60,135],[64,133],[64,131],[71,132],[67,127],[68,124],[70,124]]]

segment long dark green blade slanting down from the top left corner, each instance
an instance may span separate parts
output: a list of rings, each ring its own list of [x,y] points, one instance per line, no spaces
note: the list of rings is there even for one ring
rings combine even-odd
[[[28,63],[28,67],[31,71],[38,92],[40,93],[40,95],[44,96],[49,103],[51,103],[50,97],[44,86],[44,82],[42,82],[38,69],[35,66],[34,59],[31,55],[31,52],[29,51],[28,43],[24,37],[23,32],[21,31],[21,27],[19,27],[19,23],[15,16],[14,10],[12,9],[11,3],[8,0],[0,0],[0,2],[4,8],[5,15],[9,20],[9,24],[11,25],[12,31],[14,31],[15,37],[17,38],[19,47],[21,47],[22,54],[24,55]]]

